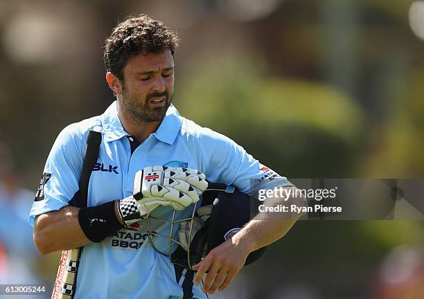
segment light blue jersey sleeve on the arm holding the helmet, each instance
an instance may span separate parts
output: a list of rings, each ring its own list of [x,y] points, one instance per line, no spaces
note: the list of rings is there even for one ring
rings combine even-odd
[[[240,192],[251,194],[258,188],[292,186],[284,176],[259,163],[230,138],[204,129],[199,142],[204,157],[206,179],[235,185]]]

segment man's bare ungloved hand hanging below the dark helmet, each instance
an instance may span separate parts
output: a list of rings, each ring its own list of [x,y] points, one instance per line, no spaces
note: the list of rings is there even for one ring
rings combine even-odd
[[[213,293],[218,288],[219,291],[224,291],[245,265],[247,255],[250,253],[249,248],[238,242],[235,236],[213,248],[199,264],[193,266],[193,270],[197,271],[194,278],[196,285],[200,284],[204,273],[209,270],[204,280],[204,293]]]

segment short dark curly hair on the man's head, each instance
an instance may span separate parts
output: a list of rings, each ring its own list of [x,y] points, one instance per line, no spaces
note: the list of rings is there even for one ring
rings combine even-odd
[[[112,30],[105,42],[103,60],[106,70],[123,80],[123,68],[131,55],[141,51],[160,53],[170,50],[174,55],[179,45],[177,33],[148,15],[127,17]]]

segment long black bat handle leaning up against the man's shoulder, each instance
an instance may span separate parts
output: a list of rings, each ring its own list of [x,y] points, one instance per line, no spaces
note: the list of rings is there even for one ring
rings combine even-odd
[[[87,149],[85,151],[84,162],[82,163],[82,171],[80,176],[80,190],[73,195],[70,206],[86,207],[88,197],[88,186],[91,172],[93,172],[94,164],[97,162],[100,143],[102,142],[102,134],[96,131],[90,131],[87,138]]]

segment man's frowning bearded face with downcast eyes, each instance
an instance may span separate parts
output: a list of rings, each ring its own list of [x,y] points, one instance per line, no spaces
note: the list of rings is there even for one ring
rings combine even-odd
[[[159,122],[173,100],[170,51],[132,55],[123,69],[122,101],[136,123]]]

